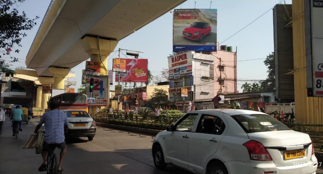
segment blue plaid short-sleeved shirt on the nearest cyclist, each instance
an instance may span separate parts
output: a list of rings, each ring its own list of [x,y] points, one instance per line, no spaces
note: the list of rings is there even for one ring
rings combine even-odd
[[[45,112],[39,121],[39,125],[45,123],[44,141],[48,144],[62,143],[65,141],[64,125],[68,126],[67,115],[64,111],[54,109]]]

